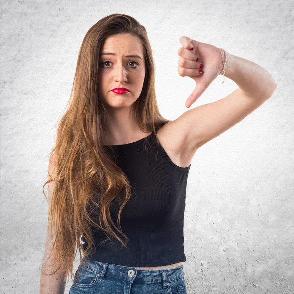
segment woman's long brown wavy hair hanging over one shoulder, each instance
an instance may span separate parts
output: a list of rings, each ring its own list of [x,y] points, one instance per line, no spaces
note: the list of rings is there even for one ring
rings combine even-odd
[[[44,186],[54,182],[48,215],[49,229],[51,234],[54,230],[55,236],[50,255],[54,252],[54,265],[57,264],[57,270],[64,273],[64,281],[69,273],[73,279],[77,250],[80,262],[81,252],[89,260],[88,256],[95,247],[93,228],[106,234],[103,242],[114,237],[128,248],[116,231],[128,240],[121,230],[120,216],[130,199],[131,186],[123,170],[113,160],[113,148],[102,145],[105,138],[109,138],[109,117],[98,95],[100,50],[109,36],[123,33],[140,38],[143,45],[145,79],[142,92],[132,105],[136,122],[143,132],[153,131],[155,136],[157,129],[169,122],[159,113],[156,102],[155,66],[145,27],[122,13],[100,19],[88,30],[79,50],[68,108],[58,124],[55,147],[51,151],[55,158],[54,177],[49,174],[51,178],[43,185],[46,197]],[[126,196],[120,206],[117,227],[111,218],[110,204],[124,188]],[[98,220],[91,216],[95,209],[100,212]],[[86,250],[81,236],[88,244]]]

